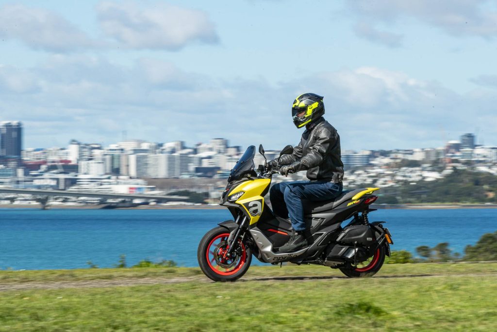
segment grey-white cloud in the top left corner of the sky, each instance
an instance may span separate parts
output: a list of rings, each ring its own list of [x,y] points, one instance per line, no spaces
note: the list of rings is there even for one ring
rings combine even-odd
[[[54,52],[96,46],[65,18],[46,9],[22,4],[0,7],[0,37],[19,39],[31,48]]]

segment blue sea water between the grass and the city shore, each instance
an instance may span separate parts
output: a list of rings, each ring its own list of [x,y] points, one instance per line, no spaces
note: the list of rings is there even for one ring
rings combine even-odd
[[[379,210],[370,221],[387,221],[392,250],[449,242],[463,252],[497,230],[497,209]],[[112,267],[121,254],[128,265],[144,258],[197,266],[203,234],[227,210],[32,210],[0,209],[0,269]],[[252,262],[256,262],[254,259]]]

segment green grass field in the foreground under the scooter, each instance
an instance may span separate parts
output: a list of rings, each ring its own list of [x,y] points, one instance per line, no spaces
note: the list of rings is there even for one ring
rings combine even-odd
[[[291,278],[274,279],[283,276]],[[244,282],[211,283],[193,268],[0,271],[1,285],[194,279],[0,292],[0,331],[497,329],[497,263],[394,264],[369,279],[319,278],[326,276],[341,274],[322,266],[253,266]]]

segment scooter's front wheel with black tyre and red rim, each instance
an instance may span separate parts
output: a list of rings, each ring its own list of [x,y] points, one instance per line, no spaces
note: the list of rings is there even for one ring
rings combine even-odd
[[[252,251],[240,239],[238,248],[227,257],[230,232],[224,227],[209,230],[200,240],[197,259],[200,269],[214,281],[235,281],[247,272],[252,261]]]

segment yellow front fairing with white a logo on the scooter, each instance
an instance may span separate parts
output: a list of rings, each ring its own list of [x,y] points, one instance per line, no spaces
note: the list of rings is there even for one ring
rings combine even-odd
[[[250,218],[250,225],[256,223],[262,214],[262,209],[264,208],[263,194],[267,193],[270,183],[271,179],[250,179],[239,184],[230,192],[230,196],[241,191],[245,192],[235,203],[244,207],[247,216]]]

